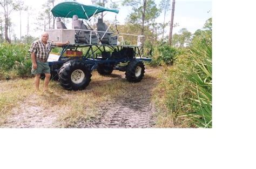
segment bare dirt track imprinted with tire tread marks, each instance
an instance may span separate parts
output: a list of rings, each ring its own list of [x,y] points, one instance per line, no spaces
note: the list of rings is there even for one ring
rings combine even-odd
[[[146,76],[126,90],[124,96],[100,106],[100,116],[84,124],[89,128],[145,128],[154,125],[152,90],[157,79]],[[81,126],[80,126],[81,127]]]

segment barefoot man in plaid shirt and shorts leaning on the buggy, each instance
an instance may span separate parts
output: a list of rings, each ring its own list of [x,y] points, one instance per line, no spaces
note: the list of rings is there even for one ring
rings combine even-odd
[[[33,42],[31,45],[31,48],[29,49],[29,52],[31,52],[31,59],[32,59],[31,73],[35,75],[36,92],[39,91],[39,82],[40,82],[41,73],[44,73],[45,75],[44,92],[52,93],[52,91],[48,90],[48,84],[51,78],[50,67],[47,62],[49,53],[51,49],[54,48],[55,46],[60,47],[60,46],[69,44],[69,41],[67,41],[66,43],[52,43],[52,42],[49,42],[48,39],[49,39],[48,33],[44,32],[41,36],[41,39]]]

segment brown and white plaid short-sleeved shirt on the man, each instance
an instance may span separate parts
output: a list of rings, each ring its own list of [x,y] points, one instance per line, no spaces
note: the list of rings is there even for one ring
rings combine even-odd
[[[49,57],[49,53],[52,48],[54,48],[56,44],[52,42],[47,42],[46,45],[42,42],[42,40],[36,40],[32,43],[29,52],[33,52],[36,55],[37,60],[41,60],[42,62],[47,62]]]

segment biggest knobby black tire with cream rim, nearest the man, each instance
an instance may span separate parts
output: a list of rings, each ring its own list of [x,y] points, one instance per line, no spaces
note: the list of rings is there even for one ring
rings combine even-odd
[[[80,60],[65,63],[58,73],[59,83],[66,90],[83,90],[91,82],[89,66]]]

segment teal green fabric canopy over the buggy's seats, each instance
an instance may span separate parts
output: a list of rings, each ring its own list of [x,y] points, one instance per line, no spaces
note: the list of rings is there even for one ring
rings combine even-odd
[[[51,10],[55,17],[72,18],[77,15],[78,18],[89,19],[93,14],[104,11],[116,12],[118,9],[107,9],[99,5],[83,5],[78,2],[62,2],[54,6]]]

